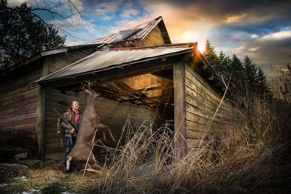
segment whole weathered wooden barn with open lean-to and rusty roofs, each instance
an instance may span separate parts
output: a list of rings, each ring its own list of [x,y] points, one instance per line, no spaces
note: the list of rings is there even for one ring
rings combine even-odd
[[[178,157],[198,147],[201,138],[200,146],[214,138],[227,143],[238,129],[226,99],[212,118],[225,86],[197,42],[171,43],[162,17],[78,46],[40,51],[0,75],[0,145],[34,150],[40,159],[63,158],[53,108],[64,113],[76,100],[82,112],[85,99],[78,91],[86,80],[101,94],[94,107],[115,139],[129,114],[132,126],[154,122],[153,129],[173,120]],[[96,139],[101,138],[98,131]]]

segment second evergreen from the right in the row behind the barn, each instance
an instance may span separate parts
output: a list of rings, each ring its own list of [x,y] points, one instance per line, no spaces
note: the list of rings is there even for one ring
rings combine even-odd
[[[256,90],[257,88],[257,80],[256,75],[258,71],[258,67],[255,63],[252,63],[253,61],[246,55],[244,57],[244,78],[245,78],[245,86],[246,90]]]

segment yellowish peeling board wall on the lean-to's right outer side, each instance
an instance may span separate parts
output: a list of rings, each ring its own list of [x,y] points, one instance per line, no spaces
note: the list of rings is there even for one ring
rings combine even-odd
[[[205,143],[212,139],[221,143],[232,140],[238,127],[235,108],[230,102],[224,101],[210,127],[207,128],[221,102],[222,95],[187,63],[185,63],[184,90],[187,148],[198,147],[204,135]]]

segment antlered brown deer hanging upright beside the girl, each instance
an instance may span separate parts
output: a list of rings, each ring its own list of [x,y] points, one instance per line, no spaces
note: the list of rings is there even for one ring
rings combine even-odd
[[[87,82],[87,81],[86,81]],[[82,119],[79,126],[79,132],[76,144],[72,148],[70,154],[66,157],[65,161],[65,173],[70,172],[70,170],[75,170],[76,167],[74,162],[82,163],[83,167],[90,171],[95,171],[93,168],[102,169],[97,165],[91,148],[94,144],[95,134],[98,129],[103,129],[103,139],[106,143],[105,129],[108,129],[111,138],[115,141],[110,128],[100,122],[99,115],[94,109],[94,98],[99,96],[100,93],[92,90],[90,81],[87,82],[88,85],[82,83],[82,90],[79,93],[85,94],[85,107],[82,114]],[[88,89],[85,89],[85,86],[88,86]],[[88,160],[89,158],[89,160]],[[86,165],[88,160],[88,164]],[[71,164],[73,162],[73,164]]]

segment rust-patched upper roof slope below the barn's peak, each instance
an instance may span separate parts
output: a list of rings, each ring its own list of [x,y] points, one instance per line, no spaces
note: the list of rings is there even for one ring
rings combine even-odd
[[[137,26],[131,27],[126,30],[122,30],[116,32],[114,34],[110,34],[104,36],[102,38],[97,38],[95,40],[91,40],[89,42],[83,43],[81,45],[91,45],[91,44],[108,44],[113,42],[119,42],[122,40],[132,40],[136,38],[143,38],[144,35],[148,34],[148,32],[155,27],[163,18],[160,16],[154,20],[145,22],[143,24],[139,24]]]

